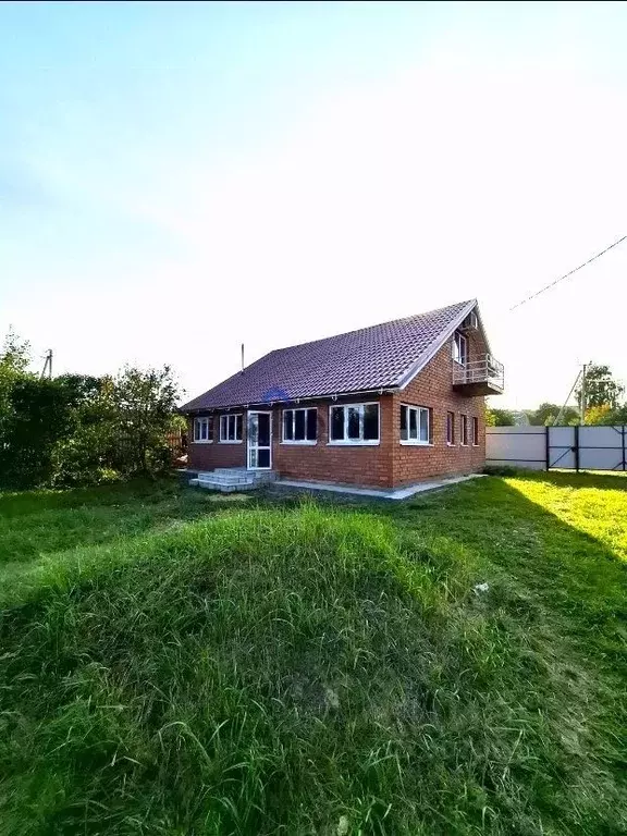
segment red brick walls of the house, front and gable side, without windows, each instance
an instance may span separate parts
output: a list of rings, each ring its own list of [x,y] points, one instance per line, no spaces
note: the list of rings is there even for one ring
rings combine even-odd
[[[469,339],[469,359],[482,354],[485,346],[475,334]],[[281,442],[282,406],[272,407],[272,467],[285,479],[393,488],[451,474],[480,470],[485,459],[484,399],[468,397],[452,388],[453,359],[451,341],[417,374],[408,386],[393,395],[307,401],[295,407],[318,407],[318,442],[283,444]],[[331,445],[329,441],[329,405],[378,401],[381,439],[378,445]],[[425,406],[432,416],[432,444],[402,445],[401,404]],[[270,408],[270,407],[268,407]],[[455,413],[455,445],[446,444],[446,413]],[[211,470],[216,467],[246,466],[246,410],[242,444],[218,442],[219,420],[213,420],[213,443],[189,443],[188,466]],[[460,415],[468,416],[468,446],[460,444]],[[472,446],[472,417],[479,420],[479,445]],[[189,428],[189,438],[194,434]]]

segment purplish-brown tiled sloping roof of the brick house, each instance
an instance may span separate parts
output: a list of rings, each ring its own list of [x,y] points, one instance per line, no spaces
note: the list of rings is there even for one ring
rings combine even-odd
[[[476,306],[476,299],[459,302],[428,314],[279,348],[181,409],[190,413],[403,388]]]

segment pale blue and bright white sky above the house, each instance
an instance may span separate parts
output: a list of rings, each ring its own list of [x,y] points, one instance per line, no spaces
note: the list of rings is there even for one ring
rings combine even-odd
[[[0,336],[171,365],[477,297],[506,393],[627,381],[625,3],[0,4]]]

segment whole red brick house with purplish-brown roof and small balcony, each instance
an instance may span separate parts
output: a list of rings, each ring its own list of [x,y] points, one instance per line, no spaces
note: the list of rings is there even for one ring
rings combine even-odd
[[[474,472],[484,396],[502,391],[463,302],[280,348],[189,401],[188,468],[381,489]]]

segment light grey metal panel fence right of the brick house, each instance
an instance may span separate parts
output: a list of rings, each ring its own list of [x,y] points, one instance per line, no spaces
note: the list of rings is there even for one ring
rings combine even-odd
[[[532,470],[627,470],[627,426],[487,427],[485,464]]]

